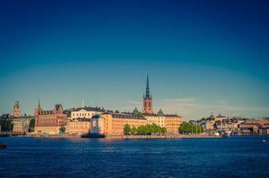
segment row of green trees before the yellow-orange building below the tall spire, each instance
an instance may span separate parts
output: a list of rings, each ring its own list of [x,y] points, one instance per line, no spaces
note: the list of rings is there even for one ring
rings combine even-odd
[[[167,133],[167,128],[161,127],[156,124],[152,125],[140,125],[138,127],[135,126],[130,126],[126,124],[124,126],[124,134],[166,134]]]

